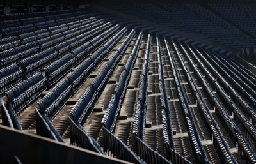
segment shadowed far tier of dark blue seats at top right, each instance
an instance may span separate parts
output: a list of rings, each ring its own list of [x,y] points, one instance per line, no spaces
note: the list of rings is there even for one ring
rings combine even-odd
[[[255,47],[255,20],[250,4],[106,4],[108,8],[150,20],[235,48]],[[209,9],[210,8],[210,9]],[[216,10],[216,13],[211,10]],[[247,8],[248,11],[247,11]],[[231,10],[231,11],[230,11]],[[238,12],[239,11],[239,12]],[[227,14],[228,13],[228,14]],[[236,13],[236,14],[233,14]],[[225,19],[223,19],[225,18]],[[232,24],[230,23],[232,22]]]

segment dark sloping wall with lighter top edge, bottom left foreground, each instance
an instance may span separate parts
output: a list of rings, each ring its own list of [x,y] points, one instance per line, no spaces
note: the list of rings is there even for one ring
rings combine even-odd
[[[14,156],[26,164],[128,163],[0,125],[0,163],[15,163]]]

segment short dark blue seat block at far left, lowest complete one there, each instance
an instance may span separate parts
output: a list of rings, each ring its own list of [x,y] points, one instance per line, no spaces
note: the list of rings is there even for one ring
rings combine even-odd
[[[46,78],[38,72],[6,92],[7,104],[12,106],[15,114],[20,114],[24,107],[35,100],[45,89]]]

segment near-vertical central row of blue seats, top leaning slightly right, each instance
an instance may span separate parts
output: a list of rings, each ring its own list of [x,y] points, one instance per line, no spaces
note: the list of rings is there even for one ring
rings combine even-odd
[[[146,121],[146,107],[147,107],[147,81],[148,81],[148,65],[149,65],[149,56],[150,56],[150,43],[151,35],[148,34],[147,38],[147,47],[145,50],[145,59],[143,63],[142,75],[140,77],[140,91],[139,98],[136,103],[136,111],[134,116],[133,130],[132,133],[141,140],[144,139],[145,135],[145,121]]]

